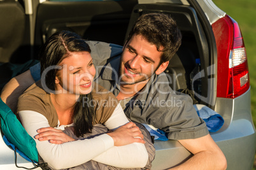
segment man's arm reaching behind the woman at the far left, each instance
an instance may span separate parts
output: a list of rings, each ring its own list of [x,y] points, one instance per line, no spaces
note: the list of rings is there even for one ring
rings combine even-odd
[[[17,109],[18,97],[34,83],[34,79],[31,75],[30,70],[13,77],[7,84],[5,84],[1,99],[11,108],[15,113]]]

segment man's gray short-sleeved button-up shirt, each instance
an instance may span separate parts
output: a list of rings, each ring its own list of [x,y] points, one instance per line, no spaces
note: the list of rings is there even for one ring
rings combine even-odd
[[[96,67],[94,81],[117,96],[120,92],[118,69],[122,46],[96,41],[87,43]],[[32,77],[40,74],[39,65],[30,70]],[[154,74],[124,111],[132,121],[165,131],[171,140],[200,138],[209,133],[206,123],[198,117],[190,96],[173,91],[165,73]]]

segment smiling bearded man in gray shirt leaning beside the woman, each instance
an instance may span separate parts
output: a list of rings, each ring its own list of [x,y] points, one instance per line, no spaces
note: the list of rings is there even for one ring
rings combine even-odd
[[[134,23],[123,50],[112,44],[89,41],[98,71],[95,81],[117,96],[129,119],[165,131],[169,139],[178,140],[194,154],[173,169],[225,169],[225,156],[208,133],[205,122],[197,116],[191,98],[177,94],[167,85],[163,72],[180,43],[180,30],[171,17],[160,13],[142,15]],[[34,69],[8,82],[1,95],[3,101],[10,105],[10,101],[15,101],[11,99],[11,91],[22,93],[34,82],[31,79],[31,74],[36,77]],[[20,82],[24,76],[30,79],[26,78],[26,85],[20,87],[18,83],[24,83]],[[176,104],[169,107],[168,101]]]

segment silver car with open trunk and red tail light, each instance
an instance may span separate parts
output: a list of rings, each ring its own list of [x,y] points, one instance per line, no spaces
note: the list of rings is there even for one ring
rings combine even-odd
[[[252,169],[256,133],[246,48],[238,23],[211,0],[1,1],[0,62],[38,60],[39,46],[59,30],[122,46],[138,16],[152,12],[171,15],[183,36],[180,49],[165,71],[171,77],[169,85],[187,91],[196,102],[223,117],[222,128],[210,134],[224,152],[227,169]],[[201,61],[201,78],[193,84],[190,74],[196,59]],[[192,156],[175,140],[155,140],[154,146],[152,169],[166,169]],[[17,164],[34,167],[19,155]],[[18,169],[13,150],[3,138],[0,169]]]

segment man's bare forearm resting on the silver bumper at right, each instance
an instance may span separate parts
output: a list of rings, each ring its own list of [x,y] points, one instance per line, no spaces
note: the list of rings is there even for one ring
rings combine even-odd
[[[193,157],[171,169],[227,169],[227,160],[210,134],[197,139],[179,140]]]

